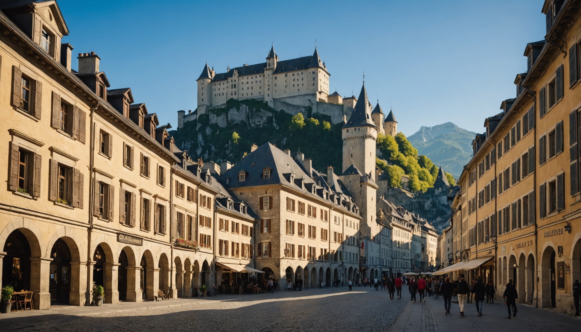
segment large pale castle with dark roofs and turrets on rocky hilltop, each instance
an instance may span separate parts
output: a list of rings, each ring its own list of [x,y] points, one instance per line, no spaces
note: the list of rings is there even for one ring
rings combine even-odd
[[[210,109],[224,108],[229,99],[256,99],[266,102],[271,108],[284,110],[292,115],[299,112],[320,113],[331,117],[333,124],[346,122],[353,112],[357,98],[354,95],[343,98],[336,91],[329,94],[330,76],[317,48],[310,56],[279,60],[273,45],[266,62],[227,67],[224,73],[216,73],[214,67],[210,68],[206,63],[197,80],[198,108],[187,114],[185,110],[178,111],[178,128],[184,126],[185,122],[196,120],[199,115],[209,114]],[[372,108],[371,104],[368,106]],[[378,132],[395,135],[397,122],[393,113],[390,112],[385,117],[379,103],[372,109]],[[234,115],[229,118],[231,122],[242,120],[246,120],[246,117]],[[210,123],[223,126],[225,122],[210,117]]]

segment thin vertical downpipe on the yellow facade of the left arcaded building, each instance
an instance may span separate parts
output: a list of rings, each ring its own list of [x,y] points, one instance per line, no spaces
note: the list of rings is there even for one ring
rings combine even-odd
[[[92,255],[91,255],[91,233],[93,231],[93,216],[92,216],[92,206],[94,206],[94,201],[95,201],[95,195],[92,195],[92,192],[95,190],[94,189],[94,179],[95,179],[95,172],[93,170],[93,164],[94,164],[94,158],[95,158],[95,119],[94,119],[94,114],[95,111],[99,108],[99,106],[101,106],[101,101],[99,99],[97,99],[97,105],[95,106],[95,108],[92,108],[91,111],[89,112],[89,119],[90,119],[90,130],[91,133],[89,134],[89,137],[91,138],[91,142],[89,143],[89,147],[91,149],[91,153],[89,154],[89,174],[91,174],[91,176],[89,176],[89,208],[88,208],[88,214],[89,214],[89,228],[87,229],[87,290],[88,292],[85,292],[85,305],[90,305],[91,304],[91,297],[90,297],[90,292],[92,291],[92,277],[91,276],[91,262],[92,262]]]

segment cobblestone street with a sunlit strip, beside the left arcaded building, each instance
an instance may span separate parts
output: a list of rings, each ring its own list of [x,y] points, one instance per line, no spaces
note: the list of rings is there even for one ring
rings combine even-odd
[[[386,331],[407,304],[385,290],[324,288],[13,312],[0,315],[0,330]]]

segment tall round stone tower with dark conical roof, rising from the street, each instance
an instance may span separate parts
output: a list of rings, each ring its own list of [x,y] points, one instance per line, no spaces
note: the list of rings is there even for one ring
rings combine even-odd
[[[381,227],[375,220],[375,141],[377,129],[371,119],[371,109],[367,99],[365,84],[353,109],[353,113],[343,128],[343,172],[340,176],[355,204],[360,207],[361,235],[367,240],[375,237]],[[371,249],[371,248],[370,248]],[[367,248],[365,248],[367,250]]]

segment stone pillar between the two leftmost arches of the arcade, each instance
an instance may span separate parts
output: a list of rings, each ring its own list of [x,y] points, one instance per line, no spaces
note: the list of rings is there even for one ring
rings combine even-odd
[[[30,290],[34,292],[35,309],[51,308],[51,293],[48,288],[51,261],[52,258],[48,257],[30,258]]]

